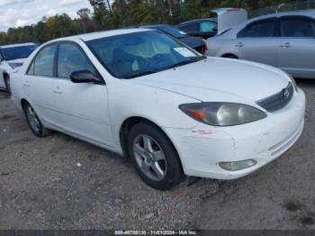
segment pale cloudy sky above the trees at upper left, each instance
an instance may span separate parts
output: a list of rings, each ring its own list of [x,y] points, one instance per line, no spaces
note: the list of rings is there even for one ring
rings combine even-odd
[[[66,13],[76,18],[76,11],[85,7],[92,10],[88,0],[0,0],[0,32],[38,23],[43,16]]]

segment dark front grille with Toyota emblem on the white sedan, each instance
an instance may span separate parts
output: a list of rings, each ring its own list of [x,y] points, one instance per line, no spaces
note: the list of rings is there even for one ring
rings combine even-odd
[[[257,101],[257,104],[265,108],[268,112],[275,112],[289,104],[293,97],[293,94],[294,86],[293,83],[290,82],[289,85],[284,87],[284,89],[281,90],[279,93]]]

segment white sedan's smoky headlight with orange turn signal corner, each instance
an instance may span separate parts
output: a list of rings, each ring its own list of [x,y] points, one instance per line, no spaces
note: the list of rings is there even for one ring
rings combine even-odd
[[[193,119],[213,126],[252,123],[266,118],[266,113],[247,104],[200,103],[181,104],[179,108]]]

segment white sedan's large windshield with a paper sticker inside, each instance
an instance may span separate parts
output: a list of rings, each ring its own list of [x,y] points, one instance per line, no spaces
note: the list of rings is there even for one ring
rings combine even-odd
[[[204,59],[164,33],[134,32],[87,41],[97,59],[114,77],[157,73]]]

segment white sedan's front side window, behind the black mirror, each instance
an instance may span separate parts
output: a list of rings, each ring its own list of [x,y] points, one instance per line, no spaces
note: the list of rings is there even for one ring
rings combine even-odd
[[[61,43],[58,52],[58,77],[70,78],[76,70],[89,70],[96,74],[85,53],[72,43]]]

